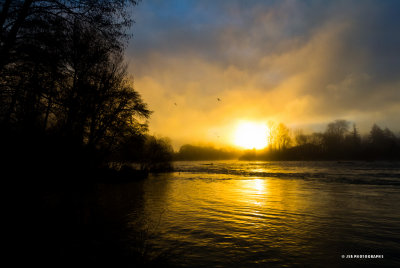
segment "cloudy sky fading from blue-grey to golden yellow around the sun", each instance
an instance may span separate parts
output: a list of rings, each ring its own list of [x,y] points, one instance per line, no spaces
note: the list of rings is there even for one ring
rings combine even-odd
[[[400,131],[400,1],[143,0],[126,50],[151,134],[232,145],[239,122]]]

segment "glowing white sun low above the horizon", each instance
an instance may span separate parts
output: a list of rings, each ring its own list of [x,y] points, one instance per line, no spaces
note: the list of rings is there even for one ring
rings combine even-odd
[[[266,124],[241,122],[236,127],[234,144],[245,149],[263,149],[268,145]]]

